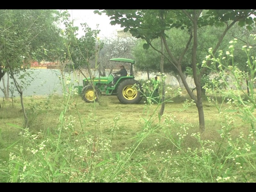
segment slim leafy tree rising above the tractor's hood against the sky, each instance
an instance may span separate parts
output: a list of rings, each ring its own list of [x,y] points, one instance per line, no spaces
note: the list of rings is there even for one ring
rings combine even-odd
[[[63,58],[63,66],[61,71],[74,71],[78,69],[86,78],[81,69],[87,68],[92,78],[91,68],[98,68],[98,54],[103,44],[98,39],[100,30],[92,30],[87,23],[81,23],[84,35],[77,38],[78,27],[73,26],[73,20],[69,20],[68,12],[65,12],[67,17],[64,17],[63,23],[65,30],[63,36],[65,37],[65,56]],[[92,61],[95,60],[95,66],[92,66]],[[66,62],[71,61],[71,62]]]

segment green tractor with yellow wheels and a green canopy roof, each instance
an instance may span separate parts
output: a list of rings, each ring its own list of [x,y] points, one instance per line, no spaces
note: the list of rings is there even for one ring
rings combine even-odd
[[[118,100],[123,104],[136,104],[139,103],[143,96],[141,84],[134,79],[132,66],[135,61],[132,59],[115,58],[110,61],[130,63],[130,74],[120,77],[115,85],[112,85],[114,74],[110,73],[107,77],[93,77],[83,79],[84,88],[81,91],[82,99],[88,103],[94,100],[98,101],[100,95],[116,95]],[[94,85],[93,86],[90,84]],[[137,86],[134,86],[136,84]]]

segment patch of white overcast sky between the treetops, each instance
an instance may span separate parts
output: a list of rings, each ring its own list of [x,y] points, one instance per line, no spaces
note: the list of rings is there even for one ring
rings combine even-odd
[[[109,37],[113,35],[116,29],[121,29],[120,25],[110,25],[110,19],[107,15],[94,14],[95,9],[68,9],[71,15],[71,19],[74,19],[74,25],[79,27],[78,38],[83,34],[80,23],[87,23],[91,29],[96,29],[96,25],[99,24],[100,38]]]

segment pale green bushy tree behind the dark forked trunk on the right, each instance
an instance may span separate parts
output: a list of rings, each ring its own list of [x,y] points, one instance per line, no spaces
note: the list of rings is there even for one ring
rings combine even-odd
[[[212,30],[214,30],[215,32],[212,33]],[[217,40],[219,39],[221,33],[220,33],[220,30],[211,26],[206,26],[204,27],[204,29],[200,28],[198,30],[198,33],[201,38],[198,40],[198,51],[196,55],[196,60],[198,61],[198,63],[202,63],[202,61],[205,59],[205,56],[208,54],[208,49],[213,44],[217,43]],[[172,45],[173,55],[175,55],[175,57],[178,57],[180,52],[182,52],[181,45],[186,43],[186,40],[187,40],[186,35],[188,34],[188,31],[172,28],[166,31],[166,34],[169,36],[169,38],[167,39],[167,42],[168,44]],[[229,37],[223,40],[223,42],[220,45],[220,49],[223,46],[226,46],[226,45],[228,46],[228,40],[227,40],[228,38]],[[133,50],[133,54],[137,62],[136,68],[140,71],[159,72],[160,71],[159,62],[160,62],[161,54],[154,51],[151,47],[149,47],[148,49],[143,49],[142,45],[145,43],[145,40],[141,39],[138,42],[139,43],[134,47],[134,50]],[[157,49],[160,49],[160,43],[158,39],[154,39],[151,42],[151,44]],[[191,62],[192,62],[191,51],[192,51],[192,48],[191,46],[189,46],[189,49],[184,55],[184,58],[181,64],[181,70],[184,73],[185,77],[187,76],[193,77],[193,71],[191,66]],[[166,51],[164,51],[164,54],[167,55]],[[200,67],[200,66],[197,66],[197,67]],[[168,60],[164,60],[164,71],[174,76],[179,82],[180,87],[184,87],[177,69],[173,67],[173,65],[171,65]],[[207,82],[210,81],[208,76],[209,72],[210,71],[208,70],[207,74],[203,76],[203,78]],[[202,81],[201,81],[201,86],[204,86],[204,83]]]

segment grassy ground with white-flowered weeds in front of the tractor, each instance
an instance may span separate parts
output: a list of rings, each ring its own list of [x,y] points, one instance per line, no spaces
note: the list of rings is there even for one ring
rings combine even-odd
[[[207,100],[199,133],[185,91],[165,104],[161,118],[161,106],[144,99],[123,105],[116,96],[98,103],[64,98],[26,97],[28,129],[19,99],[1,105],[1,182],[255,182],[250,125]]]

